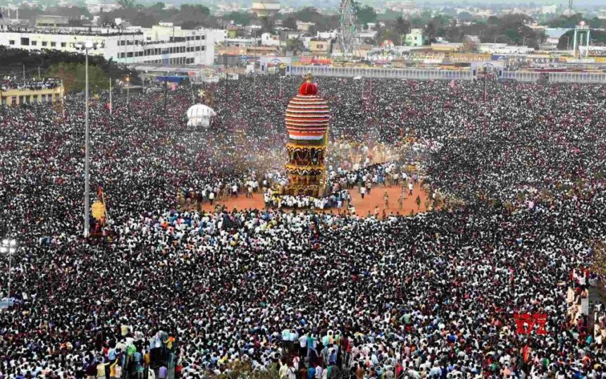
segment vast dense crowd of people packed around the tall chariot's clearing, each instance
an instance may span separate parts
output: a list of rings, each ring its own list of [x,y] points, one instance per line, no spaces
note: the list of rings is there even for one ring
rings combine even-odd
[[[425,182],[458,206],[384,218],[178,209],[184,188],[262,182],[283,166],[299,78],[242,78],[209,88],[207,130],[185,126],[190,92],[171,92],[166,111],[162,94],[131,94],[128,108],[116,96],[113,116],[94,101],[91,181],[109,222],[93,243],[81,237],[82,96],[63,120],[49,104],[7,108],[0,231],[19,249],[0,377],[242,366],[280,378],[604,377],[602,339],[565,297],[586,290],[606,236],[604,88],[489,83],[483,102],[475,82],[373,80],[371,94],[363,81],[318,82],[333,141],[414,136]],[[364,161],[328,164],[341,178]],[[514,313],[547,314],[547,335],[517,333]]]

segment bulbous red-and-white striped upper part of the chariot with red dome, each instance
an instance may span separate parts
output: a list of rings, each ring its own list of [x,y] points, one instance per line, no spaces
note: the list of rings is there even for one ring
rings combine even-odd
[[[290,139],[319,140],[328,130],[328,103],[317,95],[318,85],[307,77],[299,94],[293,97],[286,108],[286,129]]]

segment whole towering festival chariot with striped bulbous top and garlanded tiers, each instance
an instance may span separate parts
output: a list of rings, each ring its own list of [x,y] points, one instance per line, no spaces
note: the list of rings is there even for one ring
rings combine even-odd
[[[286,194],[318,197],[323,192],[330,112],[326,100],[317,94],[318,85],[307,75],[286,108]]]

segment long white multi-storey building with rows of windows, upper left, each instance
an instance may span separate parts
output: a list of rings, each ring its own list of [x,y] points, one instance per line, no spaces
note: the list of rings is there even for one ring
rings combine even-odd
[[[27,50],[81,52],[77,44],[89,41],[96,42],[98,46],[89,54],[102,55],[117,63],[212,66],[215,40],[219,35],[223,35],[223,30],[183,30],[171,23],[161,23],[151,28],[98,27],[90,30],[87,27],[5,27],[0,30],[0,45]]]

